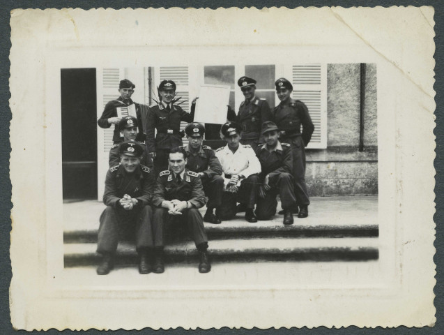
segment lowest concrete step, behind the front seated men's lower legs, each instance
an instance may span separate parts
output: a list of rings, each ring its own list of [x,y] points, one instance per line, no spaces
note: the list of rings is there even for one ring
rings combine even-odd
[[[225,239],[209,242],[212,262],[261,261],[335,261],[376,260],[378,239],[373,237],[346,237],[342,239],[287,238],[287,239]],[[65,267],[97,265],[100,255],[96,244],[65,244]],[[192,241],[170,244],[164,248],[165,262],[197,262],[198,253]],[[122,242],[116,253],[117,265],[137,263],[135,246]]]

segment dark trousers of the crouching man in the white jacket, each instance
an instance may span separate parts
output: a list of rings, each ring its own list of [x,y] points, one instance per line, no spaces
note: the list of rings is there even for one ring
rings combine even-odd
[[[247,179],[240,182],[237,192],[224,191],[222,194],[222,204],[217,207],[216,214],[221,220],[231,220],[237,213],[238,202],[245,204],[247,209],[254,209],[259,194],[259,176],[252,174]]]

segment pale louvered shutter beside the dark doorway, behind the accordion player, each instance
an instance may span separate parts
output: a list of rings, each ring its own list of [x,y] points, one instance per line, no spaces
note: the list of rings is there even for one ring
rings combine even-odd
[[[124,77],[123,68],[103,68],[97,69],[97,118],[102,116],[105,105],[118,98],[118,84]],[[103,129],[97,126],[97,168],[98,168],[98,200],[102,201],[103,191],[105,191],[105,176],[107,174],[109,149],[111,149],[114,134],[114,125]]]

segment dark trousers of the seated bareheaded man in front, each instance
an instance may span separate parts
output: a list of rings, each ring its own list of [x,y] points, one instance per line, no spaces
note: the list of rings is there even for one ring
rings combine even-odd
[[[161,232],[161,240],[164,240],[164,234],[168,237],[177,235],[186,225],[188,234],[198,248],[205,246],[208,248],[208,237],[204,228],[204,220],[197,208],[183,209],[181,215],[168,214],[168,209],[158,207],[154,210],[153,221],[162,222],[163,230]],[[170,238],[169,238],[170,239]]]

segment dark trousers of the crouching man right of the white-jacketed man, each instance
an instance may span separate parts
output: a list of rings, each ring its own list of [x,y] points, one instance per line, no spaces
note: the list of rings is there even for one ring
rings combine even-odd
[[[258,220],[269,220],[276,214],[277,200],[279,194],[282,209],[291,210],[296,207],[296,197],[294,195],[293,176],[288,172],[282,172],[269,181],[271,189],[266,191],[265,198],[259,197],[257,200],[256,216]]]

